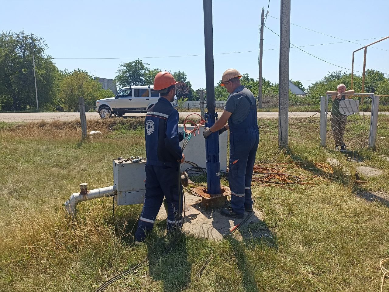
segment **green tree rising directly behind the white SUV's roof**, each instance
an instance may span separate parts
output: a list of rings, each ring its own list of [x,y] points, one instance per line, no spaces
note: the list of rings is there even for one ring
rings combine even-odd
[[[150,81],[150,76],[147,75],[150,71],[148,66],[149,64],[143,63],[140,59],[122,63],[119,70],[116,72],[118,74],[116,75],[115,80],[117,84],[119,84],[119,87],[145,85],[146,76],[148,79],[147,81]],[[151,84],[154,84],[154,79]]]

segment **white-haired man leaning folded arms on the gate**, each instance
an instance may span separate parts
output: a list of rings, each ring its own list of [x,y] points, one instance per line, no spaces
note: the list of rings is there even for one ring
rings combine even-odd
[[[331,94],[331,129],[335,140],[335,150],[346,150],[346,144],[343,142],[344,131],[347,123],[347,115],[343,115],[339,109],[339,101],[345,100],[347,95],[353,95],[354,90],[347,90],[344,84],[338,85],[338,91],[327,91]]]

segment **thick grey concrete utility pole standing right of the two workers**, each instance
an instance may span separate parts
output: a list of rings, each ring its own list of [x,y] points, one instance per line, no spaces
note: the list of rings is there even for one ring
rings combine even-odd
[[[289,130],[289,40],[291,0],[281,0],[280,19],[278,143],[280,147],[286,148],[288,146]]]

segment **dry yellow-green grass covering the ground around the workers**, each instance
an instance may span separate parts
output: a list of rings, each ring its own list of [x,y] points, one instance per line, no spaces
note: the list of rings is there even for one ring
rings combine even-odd
[[[62,204],[81,182],[112,185],[112,159],[145,155],[142,119],[88,122],[95,136],[79,143],[77,122],[0,124],[0,291],[93,291],[118,272],[137,268],[107,291],[372,291],[378,262],[389,254],[389,202],[366,201],[362,191],[388,189],[389,120],[379,118],[377,152],[359,158],[384,171],[358,187],[356,163],[319,147],[319,119],[290,119],[289,149],[279,150],[277,119],[260,119],[257,161],[340,161],[331,179],[294,191],[253,185],[259,227],[268,236],[221,242],[182,236],[172,251],[159,221],[143,247],[131,244],[141,206],[97,199],[70,220]],[[380,139],[380,136],[387,137]],[[292,170],[296,173],[300,170]],[[389,285],[387,283],[385,287]]]

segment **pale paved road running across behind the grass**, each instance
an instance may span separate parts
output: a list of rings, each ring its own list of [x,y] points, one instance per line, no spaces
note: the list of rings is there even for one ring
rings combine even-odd
[[[219,117],[221,112],[219,113]],[[180,117],[185,118],[190,114],[200,114],[200,112],[180,112]],[[366,114],[366,113],[364,113]],[[380,114],[389,115],[389,112],[380,112]],[[144,117],[146,114],[126,114],[124,117]],[[315,112],[289,112],[289,118],[305,118],[305,117],[320,117],[320,113]],[[277,118],[278,112],[258,112],[259,118]],[[77,112],[39,112],[39,113],[0,113],[0,121],[2,122],[37,122],[37,121],[73,121],[80,119],[80,114]],[[87,120],[100,119],[98,113],[87,112]]]

